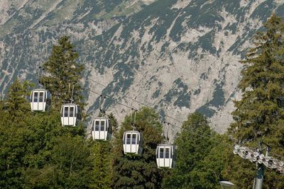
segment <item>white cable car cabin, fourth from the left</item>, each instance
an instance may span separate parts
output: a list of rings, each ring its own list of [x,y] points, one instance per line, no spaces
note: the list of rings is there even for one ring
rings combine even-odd
[[[124,132],[124,154],[141,154],[142,153],[142,134],[138,131]]]

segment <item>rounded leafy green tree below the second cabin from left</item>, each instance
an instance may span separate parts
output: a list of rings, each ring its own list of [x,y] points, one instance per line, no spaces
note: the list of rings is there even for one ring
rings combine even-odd
[[[24,188],[88,188],[91,178],[90,149],[85,139],[70,135],[56,137],[42,168],[27,168]]]

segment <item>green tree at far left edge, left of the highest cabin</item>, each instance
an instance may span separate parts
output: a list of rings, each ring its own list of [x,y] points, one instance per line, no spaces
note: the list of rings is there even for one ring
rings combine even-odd
[[[26,100],[31,83],[16,79],[6,99],[1,101],[0,113],[0,188],[19,188],[26,143],[26,120],[31,110]]]

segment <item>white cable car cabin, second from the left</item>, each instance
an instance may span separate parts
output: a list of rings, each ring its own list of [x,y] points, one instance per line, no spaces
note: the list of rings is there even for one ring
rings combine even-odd
[[[81,111],[79,105],[75,103],[66,103],[61,106],[61,123],[63,126],[76,126],[81,121]]]

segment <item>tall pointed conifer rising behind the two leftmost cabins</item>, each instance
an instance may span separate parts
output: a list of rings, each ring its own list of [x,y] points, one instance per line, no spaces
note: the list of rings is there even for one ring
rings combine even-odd
[[[72,45],[68,36],[63,36],[58,40],[58,45],[53,45],[48,61],[43,64],[46,75],[40,81],[52,94],[53,106],[56,108],[60,108],[70,98],[84,108],[80,84],[84,66],[77,62],[78,57],[75,45]]]

